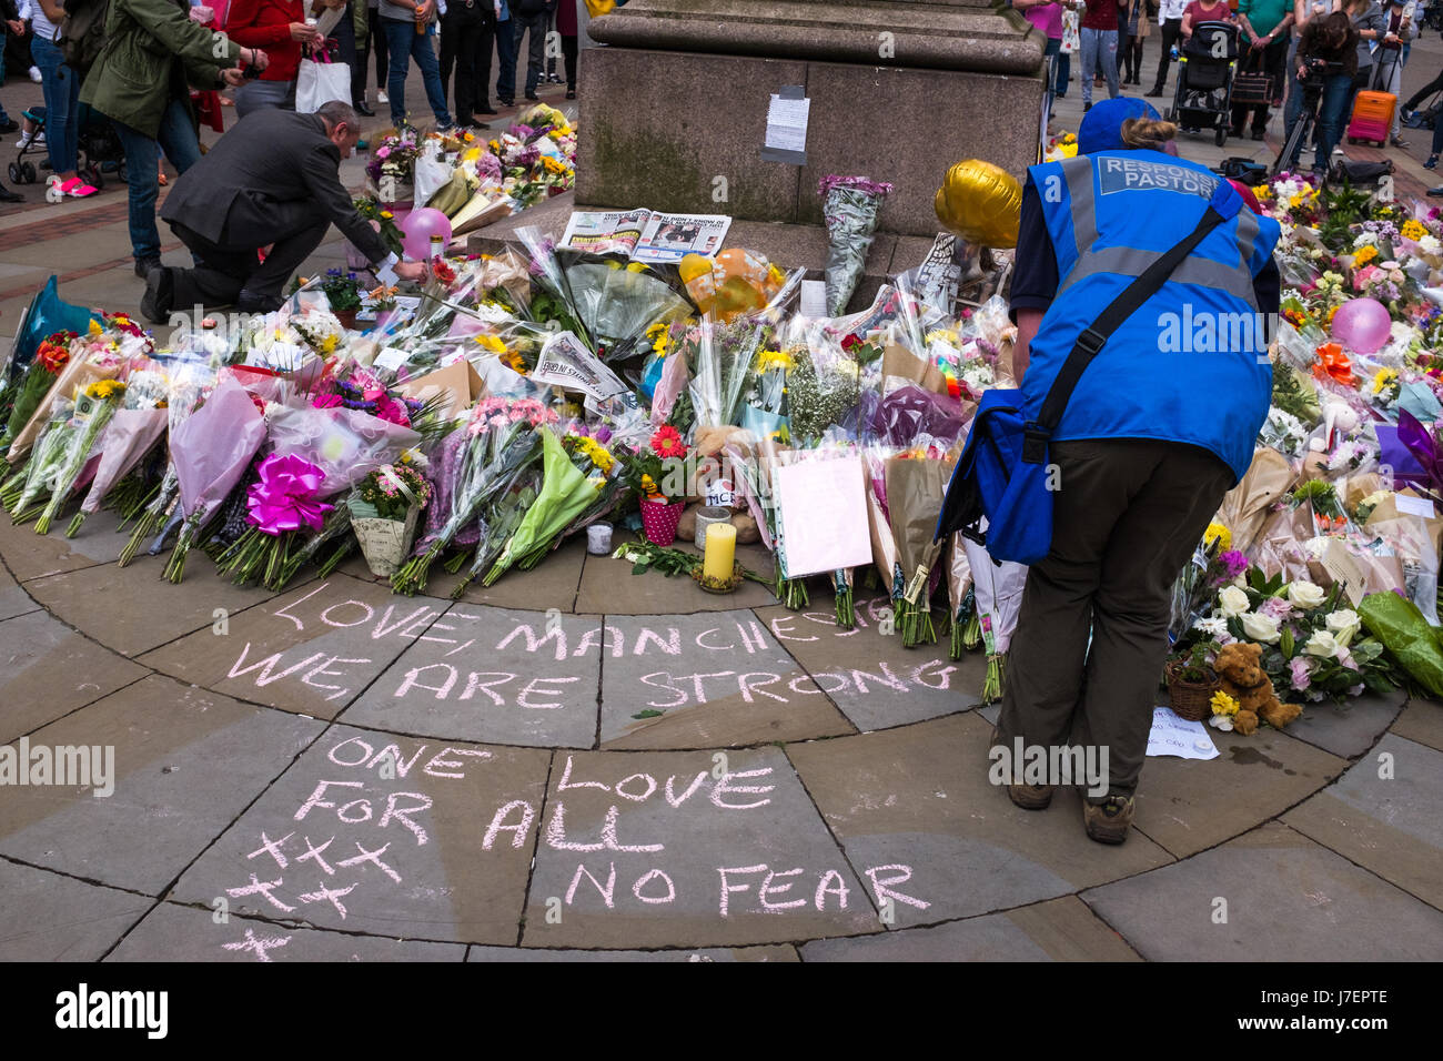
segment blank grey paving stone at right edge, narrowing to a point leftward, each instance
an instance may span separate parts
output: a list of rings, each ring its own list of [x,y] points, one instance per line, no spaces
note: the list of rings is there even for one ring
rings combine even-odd
[[[1387,768],[1380,762],[1390,755]],[[1380,777],[1380,772],[1390,777]],[[1443,909],[1443,752],[1388,733],[1283,820]]]

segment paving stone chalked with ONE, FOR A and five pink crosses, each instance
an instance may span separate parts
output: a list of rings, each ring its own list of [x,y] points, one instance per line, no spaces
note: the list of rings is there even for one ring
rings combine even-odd
[[[219,896],[242,917],[348,933],[514,946],[550,755],[335,725],[170,898]],[[492,831],[494,821],[512,829]]]

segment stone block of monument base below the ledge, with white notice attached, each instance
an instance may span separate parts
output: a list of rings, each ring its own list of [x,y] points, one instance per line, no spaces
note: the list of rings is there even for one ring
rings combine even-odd
[[[1042,133],[1040,72],[610,46],[583,52],[580,79],[577,202],[628,209],[818,225],[817,185],[837,173],[893,185],[880,231],[931,237],[932,199],[954,162],[986,159],[1020,179]],[[811,100],[804,166],[760,157],[784,85]]]

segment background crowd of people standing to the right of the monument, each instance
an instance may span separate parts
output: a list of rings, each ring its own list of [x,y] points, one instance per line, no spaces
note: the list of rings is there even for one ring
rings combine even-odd
[[[1234,104],[1231,134],[1263,140],[1276,111],[1283,114],[1283,134],[1291,131],[1303,110],[1300,78],[1310,59],[1325,64],[1317,111],[1317,154],[1315,170],[1326,170],[1332,149],[1342,139],[1356,94],[1362,89],[1391,92],[1401,105],[1394,110],[1388,140],[1407,147],[1404,128],[1413,110],[1443,89],[1443,74],[1401,101],[1403,69],[1411,42],[1423,25],[1424,4],[1416,0],[1013,0],[1025,17],[1048,38],[1046,53],[1056,56],[1049,92],[1065,97],[1069,85],[1081,85],[1084,111],[1092,107],[1094,88],[1104,84],[1110,98],[1121,85],[1141,85],[1144,55],[1152,22],[1157,22],[1159,55],[1147,97],[1166,91],[1169,69],[1186,48],[1193,27],[1203,22],[1234,23],[1240,32],[1237,69],[1264,74],[1267,102]],[[1338,16],[1338,17],[1333,17]],[[1074,75],[1074,56],[1081,66]],[[1437,123],[1433,149],[1424,163],[1437,165],[1443,152],[1443,123]],[[1293,167],[1302,159],[1291,159]]]

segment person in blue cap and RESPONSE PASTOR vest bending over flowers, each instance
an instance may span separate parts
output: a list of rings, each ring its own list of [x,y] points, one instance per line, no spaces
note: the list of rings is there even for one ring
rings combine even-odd
[[[1222,178],[1169,153],[1175,131],[1141,100],[1108,100],[1082,120],[1075,159],[1029,170],[1012,283],[1029,419],[1084,329],[1209,199],[1238,206]],[[1027,575],[1009,652],[993,745],[1042,746],[1049,762],[1053,748],[1082,748],[1084,826],[1102,843],[1131,826],[1170,588],[1247,472],[1271,396],[1278,225],[1247,206],[1224,217],[1072,391],[1049,449],[1052,549]],[[1030,810],[1052,798],[1048,784],[1007,791]]]

